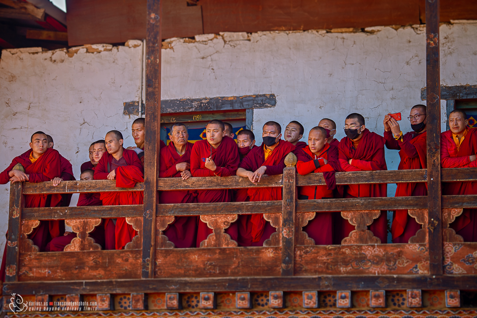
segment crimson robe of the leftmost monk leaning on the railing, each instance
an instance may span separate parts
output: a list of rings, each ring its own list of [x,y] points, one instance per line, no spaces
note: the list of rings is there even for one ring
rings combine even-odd
[[[60,153],[54,149],[47,149],[34,163],[29,159],[32,150],[15,157],[10,165],[0,173],[0,184],[9,182],[8,173],[17,163],[25,168],[25,173],[29,175],[28,182],[45,182],[55,177],[60,177],[61,160]],[[25,196],[25,208],[43,208],[56,207],[61,201],[60,194],[35,194]],[[28,235],[28,239],[33,240],[40,251],[45,251],[46,244],[49,240],[63,235],[65,232],[65,222],[60,220],[40,221],[40,225],[33,229]]]

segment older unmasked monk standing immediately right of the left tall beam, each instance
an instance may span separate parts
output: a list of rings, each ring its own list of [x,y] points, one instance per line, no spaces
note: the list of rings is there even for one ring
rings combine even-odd
[[[189,143],[187,127],[174,123],[170,128],[170,143],[160,150],[159,178],[182,178],[187,180],[190,173],[190,154],[194,144]],[[161,191],[159,203],[194,203],[197,191]],[[198,217],[175,217],[164,235],[178,248],[196,247]]]

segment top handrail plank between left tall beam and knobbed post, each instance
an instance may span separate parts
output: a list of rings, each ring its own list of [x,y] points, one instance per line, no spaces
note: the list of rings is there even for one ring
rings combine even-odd
[[[230,177],[192,177],[187,180],[177,178],[159,178],[158,190],[189,190],[189,189],[240,189],[240,188],[263,188],[281,187],[283,185],[282,174],[263,175],[258,185],[239,176]]]

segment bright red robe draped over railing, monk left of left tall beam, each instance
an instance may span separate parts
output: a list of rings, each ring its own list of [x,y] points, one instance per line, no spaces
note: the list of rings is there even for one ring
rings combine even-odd
[[[123,158],[128,165],[119,166],[116,168],[116,187],[132,188],[137,182],[144,182],[143,165],[134,150],[123,148]],[[95,180],[105,180],[111,171],[110,165],[113,156],[109,153],[104,153],[94,169]],[[101,192],[100,195],[103,205],[136,205],[144,203],[144,193],[139,191],[127,192]],[[105,220],[106,227],[109,226],[112,220]],[[123,249],[129,243],[137,232],[130,224],[126,223],[126,218],[118,218],[115,227],[115,247],[116,249]],[[106,236],[107,239],[108,236]],[[106,245],[109,242],[105,243]]]

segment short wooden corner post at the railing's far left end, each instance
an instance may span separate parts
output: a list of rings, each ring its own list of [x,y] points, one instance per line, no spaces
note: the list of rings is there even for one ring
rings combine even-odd
[[[21,210],[24,207],[23,182],[10,183],[8,238],[6,241],[5,282],[18,281],[20,256]]]

